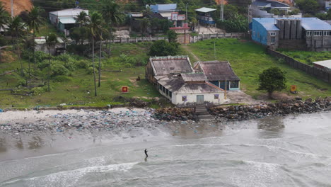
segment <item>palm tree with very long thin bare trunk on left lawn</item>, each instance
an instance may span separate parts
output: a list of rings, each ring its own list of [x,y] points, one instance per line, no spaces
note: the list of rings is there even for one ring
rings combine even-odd
[[[93,77],[94,77],[94,96],[97,96],[97,90],[96,90],[96,82],[95,82],[95,63],[94,63],[94,42],[95,38],[100,38],[101,37],[101,32],[103,30],[102,28],[103,25],[103,16],[101,16],[100,13],[98,12],[93,12],[91,16],[89,16],[88,20],[88,30],[91,35],[92,39],[92,62],[93,62]],[[100,66],[99,66],[100,67]]]

